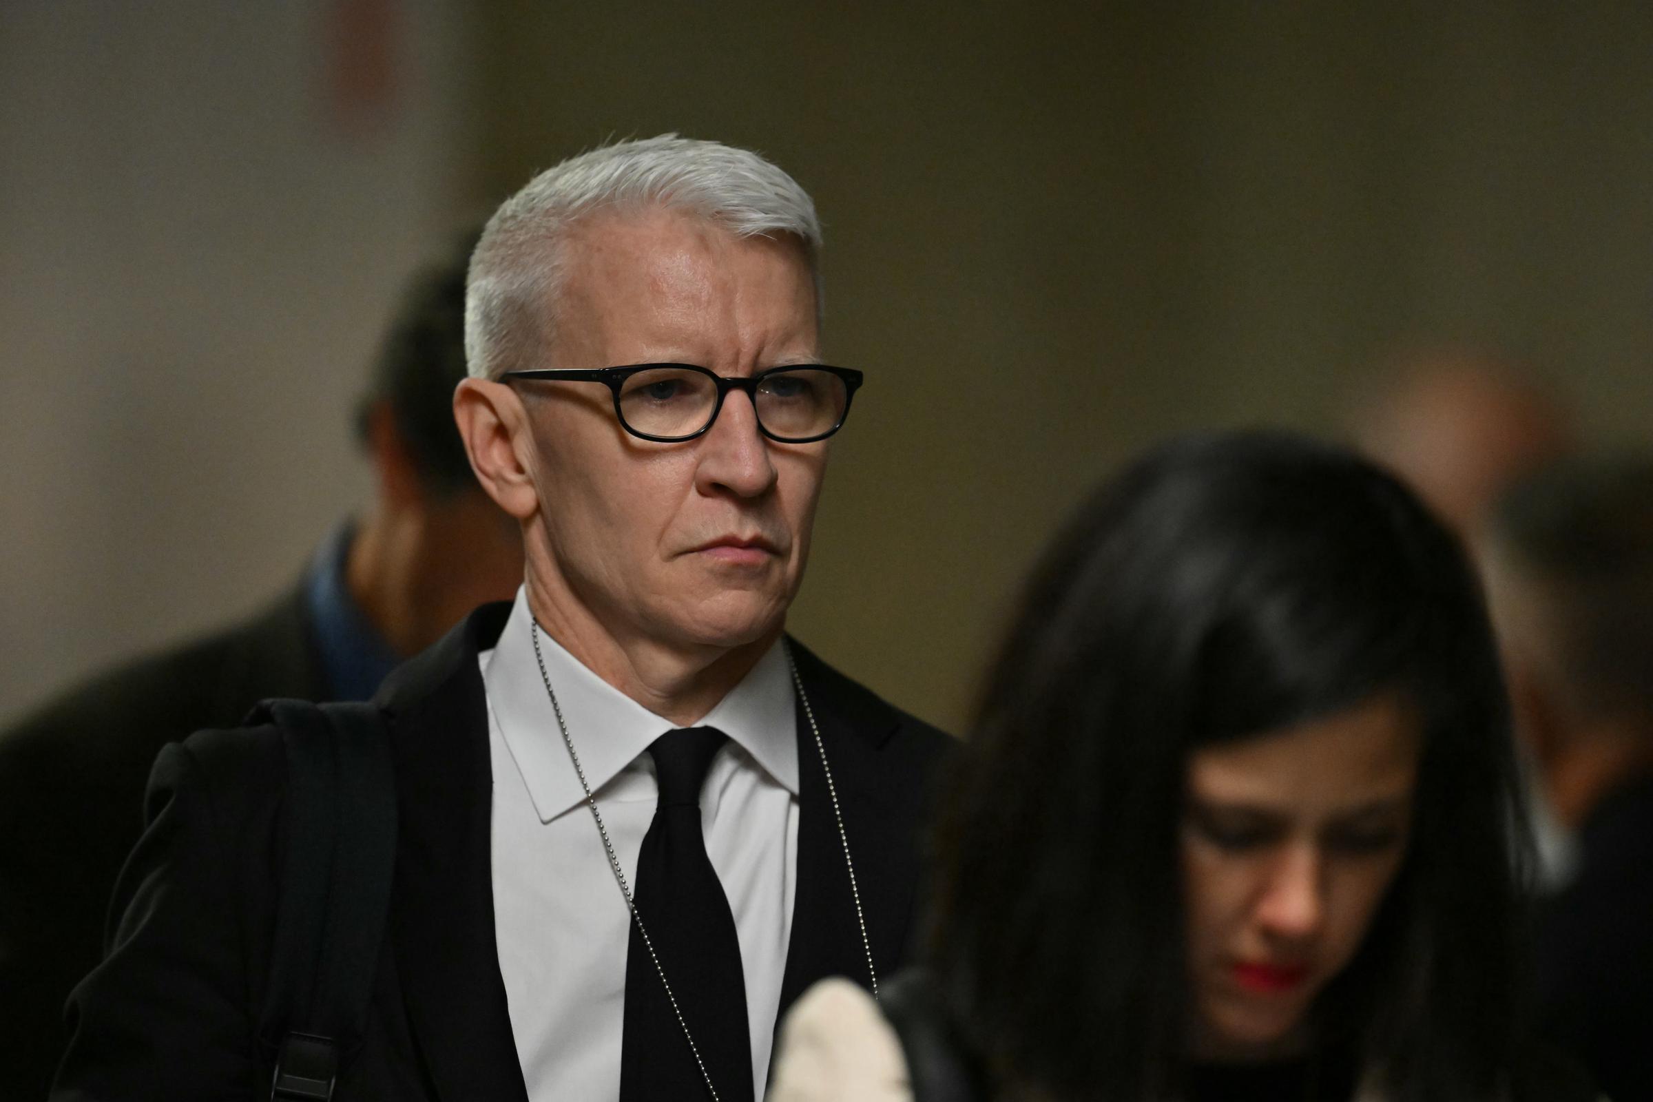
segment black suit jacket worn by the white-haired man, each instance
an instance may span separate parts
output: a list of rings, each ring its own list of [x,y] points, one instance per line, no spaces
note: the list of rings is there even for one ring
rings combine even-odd
[[[494,945],[493,780],[476,664],[507,611],[478,610],[377,697],[397,777],[397,864],[365,1038],[339,1099],[527,1097]],[[950,740],[802,646],[795,653],[833,770],[873,958],[888,975],[907,948],[914,838]],[[798,737],[798,874],[782,1011],[822,976],[866,975],[826,778],[802,715]],[[162,753],[150,828],[117,889],[124,917],[114,948],[74,991],[76,1031],[53,1097],[226,1099],[269,1082],[255,1031],[269,968],[283,777],[273,729],[202,732]]]

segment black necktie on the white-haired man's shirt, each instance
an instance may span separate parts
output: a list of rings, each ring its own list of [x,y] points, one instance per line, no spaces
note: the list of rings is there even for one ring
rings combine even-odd
[[[741,943],[701,836],[701,786],[724,740],[712,727],[689,727],[669,730],[648,747],[660,778],[660,803],[643,836],[633,899],[717,1097],[752,1102]],[[655,957],[633,919],[625,962],[620,1102],[707,1099],[706,1077],[666,998]]]

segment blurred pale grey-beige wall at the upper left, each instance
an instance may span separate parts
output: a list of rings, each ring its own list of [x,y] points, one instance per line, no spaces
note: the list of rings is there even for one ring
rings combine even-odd
[[[345,102],[350,7],[0,3],[0,720],[365,499],[350,408],[476,154],[456,5],[380,5],[390,94]]]

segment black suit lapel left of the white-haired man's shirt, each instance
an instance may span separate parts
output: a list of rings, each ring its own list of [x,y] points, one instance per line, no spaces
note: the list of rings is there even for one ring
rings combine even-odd
[[[413,1036],[450,1102],[527,1102],[494,943],[493,772],[476,664],[509,608],[473,613],[379,696],[402,808],[392,948]]]

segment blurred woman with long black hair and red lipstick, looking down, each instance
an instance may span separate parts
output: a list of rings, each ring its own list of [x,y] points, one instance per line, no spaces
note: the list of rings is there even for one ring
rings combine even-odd
[[[1514,773],[1478,583],[1398,482],[1172,443],[1023,593],[927,971],[812,993],[770,1097],[1589,1097],[1517,1046]]]

